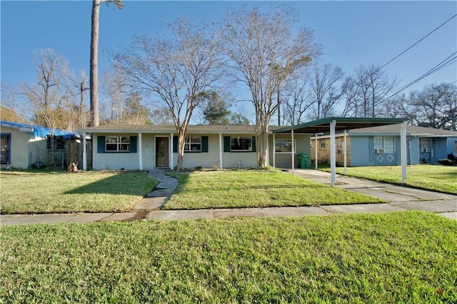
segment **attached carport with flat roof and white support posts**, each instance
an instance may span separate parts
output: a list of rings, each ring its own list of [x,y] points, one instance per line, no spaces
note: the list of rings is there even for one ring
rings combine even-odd
[[[335,134],[337,131],[352,130],[354,128],[368,128],[373,126],[385,126],[401,123],[399,131],[401,137],[401,183],[406,180],[406,118],[349,118],[349,117],[328,117],[319,119],[317,121],[309,121],[308,123],[301,123],[296,126],[285,126],[273,131],[274,133],[291,133],[292,142],[293,135],[296,133],[318,134],[330,132],[330,171],[331,181],[333,186],[336,180],[336,148],[335,148]],[[345,136],[346,137],[346,136]],[[346,138],[344,139],[346,143]],[[346,151],[345,164],[346,167]],[[273,158],[275,155],[273,154]],[[293,154],[292,154],[293,160]],[[293,162],[292,162],[293,164]],[[293,166],[292,166],[293,168]],[[292,169],[293,170],[293,169]]]

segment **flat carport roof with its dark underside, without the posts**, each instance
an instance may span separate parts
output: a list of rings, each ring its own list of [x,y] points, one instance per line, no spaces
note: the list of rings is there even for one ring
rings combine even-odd
[[[350,117],[328,117],[318,121],[309,121],[296,126],[285,126],[277,128],[273,133],[324,133],[330,131],[331,121],[336,121],[335,131],[351,130],[354,128],[367,128],[373,126],[385,126],[407,121],[406,118],[350,118]]]

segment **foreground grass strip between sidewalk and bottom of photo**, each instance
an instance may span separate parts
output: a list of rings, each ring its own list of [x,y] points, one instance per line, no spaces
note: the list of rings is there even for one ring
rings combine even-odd
[[[7,226],[1,303],[457,303],[456,221],[408,211]]]

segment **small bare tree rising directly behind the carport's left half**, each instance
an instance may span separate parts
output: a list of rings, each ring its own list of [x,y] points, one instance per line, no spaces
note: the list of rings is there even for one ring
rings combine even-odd
[[[316,115],[313,119],[326,118],[335,103],[341,98],[346,86],[336,88],[338,81],[343,78],[343,69],[331,64],[315,66],[311,79],[311,98],[316,103]]]

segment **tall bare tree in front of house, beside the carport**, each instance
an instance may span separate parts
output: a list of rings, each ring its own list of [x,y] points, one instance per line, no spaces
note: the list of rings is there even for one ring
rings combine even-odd
[[[273,96],[293,72],[308,66],[318,55],[313,34],[296,29],[296,11],[277,6],[271,14],[258,7],[228,14],[222,31],[226,55],[236,80],[246,83],[256,111],[257,159],[268,165],[268,125],[278,110]]]

